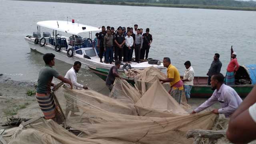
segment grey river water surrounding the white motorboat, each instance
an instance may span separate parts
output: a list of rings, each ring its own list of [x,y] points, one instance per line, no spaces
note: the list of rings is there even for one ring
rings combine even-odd
[[[67,16],[97,27],[138,24],[144,30],[150,28],[153,43],[149,57],[170,57],[181,74],[184,62],[190,60],[195,75],[206,76],[217,52],[225,74],[231,45],[241,65],[256,62],[256,12],[12,0],[0,0],[0,7],[0,73],[13,80],[36,81],[44,66],[42,54],[30,51],[24,36],[36,32],[38,21],[66,20]],[[58,60],[54,66],[62,75],[71,67]],[[80,70],[78,81],[96,90],[105,86],[85,69]]]

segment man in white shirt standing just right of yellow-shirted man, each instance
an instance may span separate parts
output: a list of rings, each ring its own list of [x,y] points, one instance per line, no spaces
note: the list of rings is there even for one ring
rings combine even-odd
[[[186,67],[186,71],[182,81],[184,84],[185,96],[188,101],[188,99],[190,98],[190,91],[192,89],[192,86],[194,85],[194,68],[192,68],[190,61],[186,61],[184,65]]]

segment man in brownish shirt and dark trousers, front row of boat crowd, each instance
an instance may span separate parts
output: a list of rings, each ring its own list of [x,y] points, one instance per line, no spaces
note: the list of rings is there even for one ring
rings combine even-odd
[[[108,29],[107,35],[104,36],[104,51],[106,54],[105,60],[107,64],[112,64],[113,46],[114,46],[114,36],[111,34],[111,30]]]

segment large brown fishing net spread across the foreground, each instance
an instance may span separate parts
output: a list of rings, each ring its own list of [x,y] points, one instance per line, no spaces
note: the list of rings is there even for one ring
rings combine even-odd
[[[188,144],[193,142],[185,137],[188,130],[212,128],[216,114],[188,114],[158,77],[151,79],[154,82],[143,94],[120,79],[116,79],[110,96],[63,86],[55,95],[67,126],[83,132],[80,137],[52,120],[41,119],[26,128],[20,126],[9,143]]]

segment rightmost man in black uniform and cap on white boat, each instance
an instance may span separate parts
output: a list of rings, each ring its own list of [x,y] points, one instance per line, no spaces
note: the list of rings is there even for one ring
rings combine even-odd
[[[142,38],[143,38],[143,45],[142,45],[142,49],[140,50],[140,59],[144,60],[144,57],[145,59],[148,58],[150,44],[153,41],[152,35],[149,33],[149,28],[146,28],[146,33],[142,35]],[[145,52],[146,52],[146,56],[145,56]]]

